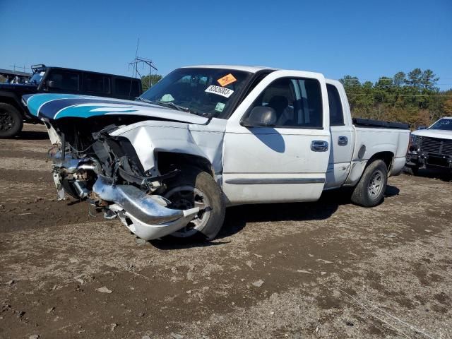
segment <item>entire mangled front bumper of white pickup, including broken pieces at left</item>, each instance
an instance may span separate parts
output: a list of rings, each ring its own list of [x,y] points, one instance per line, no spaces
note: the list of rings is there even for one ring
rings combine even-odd
[[[131,232],[142,239],[157,239],[176,232],[199,213],[198,207],[188,210],[168,208],[170,201],[162,196],[145,194],[133,185],[114,184],[112,178],[100,174],[93,160],[54,160],[57,162],[54,163],[54,182],[59,199],[64,198],[64,190],[81,199],[88,198],[96,208],[107,212],[106,218],[117,215]],[[85,181],[87,172],[91,173],[88,177],[93,178],[94,184]]]

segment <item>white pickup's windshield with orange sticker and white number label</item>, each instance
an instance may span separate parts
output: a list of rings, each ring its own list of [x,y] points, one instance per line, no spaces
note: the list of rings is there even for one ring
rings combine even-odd
[[[251,73],[232,69],[177,69],[141,95],[167,107],[224,119]]]

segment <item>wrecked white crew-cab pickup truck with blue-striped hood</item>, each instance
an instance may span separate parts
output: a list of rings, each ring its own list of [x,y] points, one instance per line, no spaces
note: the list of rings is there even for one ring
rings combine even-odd
[[[54,147],[64,192],[143,239],[213,239],[227,206],[316,201],[353,188],[380,203],[405,165],[408,126],[354,119],[343,86],[320,73],[191,66],[136,101],[25,95]]]

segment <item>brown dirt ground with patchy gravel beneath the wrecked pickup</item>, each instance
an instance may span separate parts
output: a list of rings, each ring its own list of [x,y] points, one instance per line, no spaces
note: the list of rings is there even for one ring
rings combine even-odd
[[[452,183],[227,210],[209,244],[136,242],[56,201],[42,126],[0,141],[0,338],[452,338]]]

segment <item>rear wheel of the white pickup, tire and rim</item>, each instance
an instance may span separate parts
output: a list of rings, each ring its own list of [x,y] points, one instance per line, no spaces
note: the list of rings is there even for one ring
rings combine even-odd
[[[383,160],[374,160],[362,174],[353,189],[352,203],[363,207],[373,207],[381,203],[388,184],[388,168]]]

